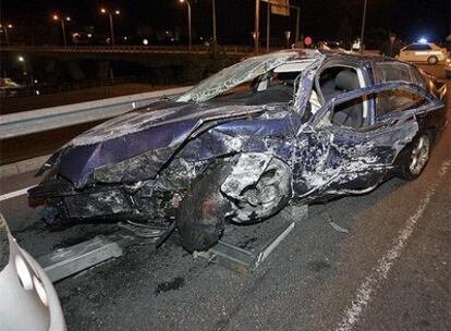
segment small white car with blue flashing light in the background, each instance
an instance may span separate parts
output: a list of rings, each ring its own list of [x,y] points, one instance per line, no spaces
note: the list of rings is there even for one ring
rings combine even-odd
[[[432,42],[414,42],[401,49],[399,59],[407,62],[437,64],[447,59],[447,49]]]

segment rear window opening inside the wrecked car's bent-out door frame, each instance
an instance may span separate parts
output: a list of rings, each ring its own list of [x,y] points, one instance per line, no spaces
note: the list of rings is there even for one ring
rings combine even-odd
[[[376,118],[381,118],[393,112],[418,108],[426,102],[424,97],[402,88],[394,88],[378,93],[375,98]]]

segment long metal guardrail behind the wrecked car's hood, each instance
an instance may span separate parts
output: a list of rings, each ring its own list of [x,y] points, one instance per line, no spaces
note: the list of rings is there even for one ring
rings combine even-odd
[[[0,115],[0,139],[89,123],[120,115],[163,97],[182,94],[191,86],[149,91]]]

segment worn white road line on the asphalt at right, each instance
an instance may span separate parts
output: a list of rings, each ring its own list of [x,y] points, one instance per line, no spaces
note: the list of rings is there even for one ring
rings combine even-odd
[[[447,161],[442,164],[439,171],[439,176],[442,177],[448,169],[451,167],[451,161]],[[365,281],[361,284],[357,290],[357,294],[351,303],[351,307],[345,310],[344,317],[336,331],[350,331],[355,327],[363,309],[368,305],[371,294],[377,290],[379,283],[387,279],[387,275],[394,263],[394,260],[400,256],[402,248],[412,235],[415,224],[423,216],[430,198],[436,193],[437,184],[430,188],[426,197],[422,200],[416,212],[405,222],[404,228],[401,230],[399,236],[395,240],[394,246],[387,252],[387,254],[379,259],[377,268],[365,278]]]

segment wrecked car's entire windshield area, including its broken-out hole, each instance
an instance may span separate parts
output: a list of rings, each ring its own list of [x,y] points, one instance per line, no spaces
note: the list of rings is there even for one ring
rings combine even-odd
[[[200,82],[178,101],[288,102],[293,99],[295,78],[314,61],[312,58],[300,59],[296,51],[249,58]]]

